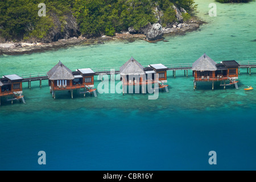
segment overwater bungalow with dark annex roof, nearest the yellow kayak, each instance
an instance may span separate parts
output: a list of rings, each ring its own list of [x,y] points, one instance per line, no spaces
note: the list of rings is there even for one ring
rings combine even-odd
[[[196,89],[196,82],[212,82],[212,89],[214,88],[214,82],[221,82],[220,85],[235,85],[237,86],[238,79],[238,67],[240,65],[237,61],[222,61],[217,64],[209,56],[204,54],[197,59],[192,65],[192,71],[194,76],[194,89]],[[226,83],[228,81],[228,83]]]

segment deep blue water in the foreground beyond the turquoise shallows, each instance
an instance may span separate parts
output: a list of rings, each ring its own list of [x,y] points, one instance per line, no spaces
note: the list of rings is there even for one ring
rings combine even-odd
[[[14,120],[24,114],[26,119]],[[0,169],[255,169],[251,109],[156,113],[46,109],[1,120]],[[38,164],[40,150],[46,152],[46,165]],[[211,166],[212,150],[217,165]]]

